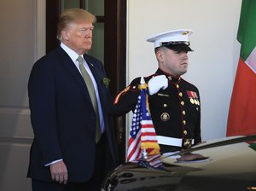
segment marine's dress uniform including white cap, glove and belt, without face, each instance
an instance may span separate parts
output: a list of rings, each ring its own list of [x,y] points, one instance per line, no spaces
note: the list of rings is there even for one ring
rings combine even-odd
[[[191,33],[191,30],[164,32],[148,38],[148,42],[154,42],[155,51],[159,47],[166,47],[177,54],[187,54],[192,51],[188,41]],[[154,74],[144,77],[144,80],[148,84],[148,105],[160,152],[190,148],[201,142],[201,101],[195,85],[160,67]],[[135,78],[115,97],[110,109],[111,114],[121,116],[134,111],[141,91],[140,81],[141,77]]]

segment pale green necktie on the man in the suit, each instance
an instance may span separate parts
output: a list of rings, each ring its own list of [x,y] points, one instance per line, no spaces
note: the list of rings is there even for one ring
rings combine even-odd
[[[95,92],[92,80],[90,78],[90,75],[84,68],[84,59],[82,58],[82,56],[79,55],[79,58],[77,59],[77,61],[79,61],[79,69],[84,78],[84,82],[90,94],[90,100],[96,112],[96,143],[97,143],[99,142],[102,136],[102,131],[100,127],[100,118],[99,118],[99,111],[98,111],[98,103],[96,99],[96,92]]]

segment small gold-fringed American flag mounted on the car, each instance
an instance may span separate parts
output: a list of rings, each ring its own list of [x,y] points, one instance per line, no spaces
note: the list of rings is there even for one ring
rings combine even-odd
[[[160,147],[148,112],[147,99],[146,88],[143,88],[131,121],[127,161],[159,168],[163,166],[160,161]],[[143,158],[143,152],[146,152],[148,157]]]

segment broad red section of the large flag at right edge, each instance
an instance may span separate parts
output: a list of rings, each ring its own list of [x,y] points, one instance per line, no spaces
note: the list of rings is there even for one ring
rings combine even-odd
[[[227,136],[256,134],[255,84],[255,73],[240,59],[230,101]]]

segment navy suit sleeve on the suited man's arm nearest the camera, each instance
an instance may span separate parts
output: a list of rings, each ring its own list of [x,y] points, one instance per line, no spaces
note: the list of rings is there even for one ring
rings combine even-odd
[[[47,61],[38,61],[28,82],[29,106],[35,142],[44,164],[62,159],[56,124],[54,68]]]

